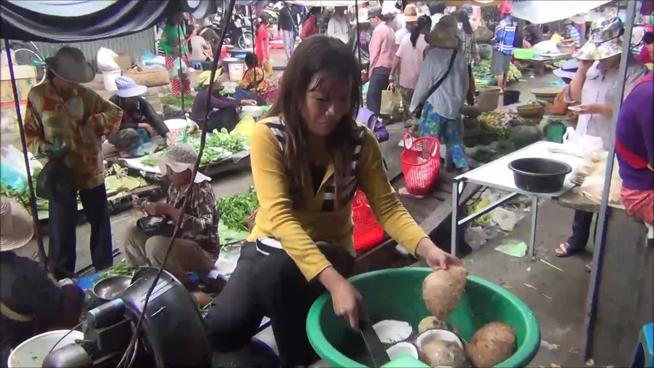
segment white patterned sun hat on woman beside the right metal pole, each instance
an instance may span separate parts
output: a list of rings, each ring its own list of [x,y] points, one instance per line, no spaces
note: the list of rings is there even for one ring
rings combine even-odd
[[[625,31],[617,18],[600,18],[591,25],[591,36],[574,55],[579,60],[602,60],[622,53]]]

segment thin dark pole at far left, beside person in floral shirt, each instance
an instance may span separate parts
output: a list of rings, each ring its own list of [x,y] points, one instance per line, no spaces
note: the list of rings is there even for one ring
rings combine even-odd
[[[37,198],[34,195],[34,185],[32,183],[32,173],[29,168],[29,156],[27,156],[27,140],[25,138],[25,128],[23,127],[23,119],[20,114],[20,100],[18,98],[18,86],[16,86],[16,76],[14,75],[14,64],[11,59],[11,48],[9,39],[5,39],[5,51],[7,51],[7,62],[9,64],[9,75],[11,77],[11,88],[14,92],[14,104],[16,105],[16,118],[18,119],[18,130],[20,131],[20,143],[23,146],[23,157],[25,158],[25,169],[27,170],[27,187],[29,188],[29,208],[32,212],[32,220],[34,225],[34,234],[37,237],[37,247],[39,248],[39,260],[43,263],[45,272],[48,272],[48,257],[45,255],[45,248],[43,247],[43,236],[39,228],[39,212],[37,210]]]

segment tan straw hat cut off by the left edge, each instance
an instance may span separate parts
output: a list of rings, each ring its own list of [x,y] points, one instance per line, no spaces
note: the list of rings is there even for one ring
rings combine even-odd
[[[0,198],[0,251],[9,251],[27,244],[34,236],[29,212],[14,198]]]

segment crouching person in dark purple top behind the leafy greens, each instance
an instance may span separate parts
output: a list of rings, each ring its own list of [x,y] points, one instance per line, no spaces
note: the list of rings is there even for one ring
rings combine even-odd
[[[198,87],[201,88],[196,94],[196,97],[193,99],[193,107],[191,109],[191,116],[194,121],[198,123],[199,126],[203,126],[204,119],[207,116],[207,94],[209,94],[209,80],[211,79],[211,71],[203,71],[198,76]],[[218,73],[216,73],[214,81],[218,79]],[[227,130],[232,130],[234,126],[238,123],[238,114],[236,108],[238,106],[255,106],[256,101],[254,100],[241,100],[230,98],[227,96],[222,96],[218,92],[220,86],[218,83],[214,82],[213,91],[211,94],[211,109],[212,112],[209,115],[209,130],[221,128],[227,128]]]

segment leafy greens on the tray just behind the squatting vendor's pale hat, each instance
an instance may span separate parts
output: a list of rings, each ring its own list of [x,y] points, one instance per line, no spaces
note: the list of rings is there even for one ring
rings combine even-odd
[[[196,151],[200,149],[200,136],[192,135],[188,136],[188,144],[191,145]],[[220,132],[213,132],[207,134],[207,141],[205,142],[205,149],[200,160],[200,165],[204,166],[209,164],[209,162],[217,162],[223,158],[229,156],[233,153],[239,153],[245,149],[245,141],[241,136],[232,135],[227,132],[225,128],[222,128]],[[162,156],[168,148],[154,153],[154,156]],[[228,151],[228,152],[225,152]],[[144,158],[141,158],[141,163],[147,166],[156,166],[156,161],[154,156],[149,155]]]

